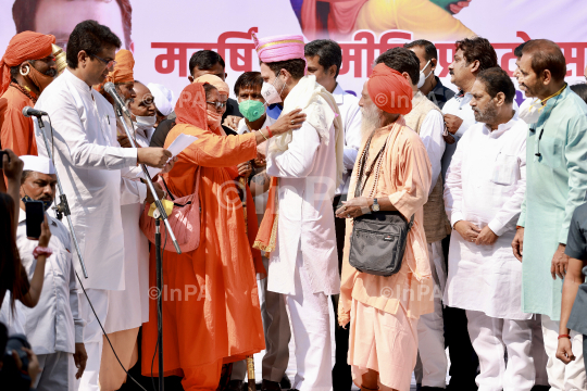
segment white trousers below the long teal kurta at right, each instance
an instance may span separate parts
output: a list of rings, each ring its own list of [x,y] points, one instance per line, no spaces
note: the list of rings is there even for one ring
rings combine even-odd
[[[560,323],[542,315],[542,336],[545,350],[548,355],[547,373],[551,391],[584,391],[587,390],[585,363],[583,361],[583,335],[571,331],[571,343],[575,361],[564,365],[557,358],[559,346]]]

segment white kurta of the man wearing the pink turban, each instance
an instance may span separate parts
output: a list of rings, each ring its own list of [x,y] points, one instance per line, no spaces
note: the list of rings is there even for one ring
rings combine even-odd
[[[333,198],[336,189],[335,128],[326,146],[308,122],[294,131],[285,152],[267,156],[267,175],[279,178],[277,243],[271,253],[268,290],[296,294],[301,251],[313,293],[340,291]]]

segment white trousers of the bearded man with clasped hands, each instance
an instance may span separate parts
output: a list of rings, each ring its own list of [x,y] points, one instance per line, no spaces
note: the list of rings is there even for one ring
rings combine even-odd
[[[478,391],[530,391],[536,377],[532,319],[494,318],[477,311],[466,311],[466,318],[471,343],[479,357]]]

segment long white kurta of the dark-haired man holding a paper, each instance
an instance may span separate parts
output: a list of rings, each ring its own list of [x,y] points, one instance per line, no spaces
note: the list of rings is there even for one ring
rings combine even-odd
[[[140,202],[136,184],[121,177],[121,169],[136,166],[136,149],[116,141],[114,110],[99,92],[68,70],[42,91],[36,109],[52,121],[55,168],[67,195],[72,220],[88,279],[86,288],[124,289],[124,236],[122,203]],[[51,143],[47,118],[46,134]],[[47,156],[45,141],[35,122],[39,155]],[[82,267],[74,253],[74,266]]]

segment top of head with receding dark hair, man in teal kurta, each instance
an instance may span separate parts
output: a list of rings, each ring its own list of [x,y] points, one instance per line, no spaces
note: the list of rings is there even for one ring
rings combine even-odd
[[[548,39],[533,39],[522,48],[522,56],[530,58],[534,73],[540,77],[549,71],[554,81],[564,80],[566,61],[557,43]]]

